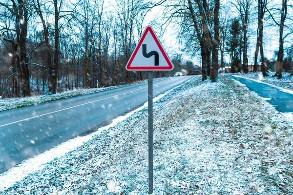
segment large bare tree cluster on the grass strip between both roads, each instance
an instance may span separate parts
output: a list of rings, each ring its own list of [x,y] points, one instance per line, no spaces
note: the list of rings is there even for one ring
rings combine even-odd
[[[184,21],[182,25],[193,26],[201,50],[202,79],[205,80],[210,75],[211,80],[215,81],[218,76],[219,1],[216,0],[213,4],[208,3],[207,0],[188,0],[186,4],[183,0],[180,3],[171,5],[173,7],[173,13],[170,18],[175,16],[177,18],[182,17]],[[192,22],[188,23],[188,21],[185,21],[186,18],[191,19]],[[214,24],[214,39],[212,39],[211,34],[212,24]],[[213,57],[210,63],[211,52]]]

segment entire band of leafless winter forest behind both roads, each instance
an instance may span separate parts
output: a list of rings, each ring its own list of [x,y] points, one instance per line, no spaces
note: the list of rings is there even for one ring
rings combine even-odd
[[[182,51],[198,56],[199,68],[182,54],[170,55],[176,71],[199,72],[216,82],[230,56],[231,72],[254,70],[269,26],[278,38],[276,74],[291,70],[292,2],[288,0],[0,0],[0,96],[27,97],[78,88],[96,88],[146,79],[125,65],[146,25],[158,33],[173,25]],[[290,4],[291,3],[291,4]],[[145,23],[160,8],[161,17]],[[231,12],[231,13],[230,13]],[[230,13],[230,14],[229,14]],[[160,30],[161,29],[161,30]],[[289,42],[287,47],[284,42]]]

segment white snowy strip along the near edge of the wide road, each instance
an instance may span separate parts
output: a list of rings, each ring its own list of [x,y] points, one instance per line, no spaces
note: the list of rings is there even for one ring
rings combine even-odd
[[[161,94],[157,96],[156,98],[153,98],[153,102],[158,101],[160,98],[163,98],[166,96],[170,91],[181,87],[191,79],[194,79],[196,77],[192,77],[182,83],[181,85],[178,85],[172,89],[169,89],[166,91],[164,94]],[[57,146],[55,146],[52,149],[49,149],[42,154],[26,159],[21,164],[17,165],[16,167],[10,168],[8,171],[0,174],[0,192],[4,191],[5,189],[12,187],[16,182],[21,181],[25,176],[28,176],[31,173],[35,173],[36,171],[41,170],[46,166],[46,163],[52,161],[54,158],[59,158],[61,156],[64,156],[66,153],[71,152],[78,148],[79,146],[82,146],[85,142],[91,140],[94,136],[100,135],[102,131],[107,130],[111,127],[114,127],[118,122],[126,119],[127,117],[130,117],[133,115],[135,112],[138,112],[144,108],[147,107],[147,102],[144,103],[143,106],[127,113],[124,116],[117,117],[113,119],[112,123],[105,126],[101,127],[98,129],[98,131],[84,136],[84,137],[75,137],[73,139],[70,139],[68,141],[65,141]]]

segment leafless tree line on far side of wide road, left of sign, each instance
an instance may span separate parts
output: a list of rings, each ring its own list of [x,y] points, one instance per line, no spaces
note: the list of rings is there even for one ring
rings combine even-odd
[[[141,0],[0,1],[0,96],[27,97],[147,78],[125,65],[151,9]],[[105,11],[105,9],[107,9]],[[175,60],[175,59],[173,59]],[[180,71],[157,71],[166,77]]]

